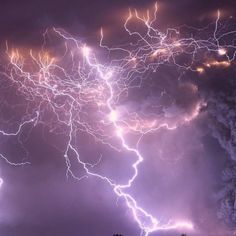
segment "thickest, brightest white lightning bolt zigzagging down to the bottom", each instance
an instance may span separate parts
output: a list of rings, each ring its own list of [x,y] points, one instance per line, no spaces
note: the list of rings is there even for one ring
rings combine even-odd
[[[83,48],[83,52],[84,52],[84,56],[86,58],[87,63],[91,67],[96,68],[101,79],[105,81],[105,84],[106,84],[109,94],[110,94],[107,101],[106,101],[106,105],[109,109],[110,114],[114,114],[115,109],[112,106],[112,101],[114,99],[114,91],[113,91],[112,83],[110,82],[110,81],[112,81],[113,73],[109,68],[104,68],[103,66],[101,66],[100,64],[97,64],[97,63],[94,64],[91,61],[88,48]],[[105,69],[105,72],[104,72],[104,69]],[[118,197],[124,198],[127,207],[131,210],[135,221],[138,223],[138,225],[141,229],[141,235],[148,236],[151,232],[154,232],[156,230],[168,230],[168,229],[175,229],[175,228],[179,228],[179,227],[192,229],[193,225],[189,222],[177,222],[174,224],[159,225],[159,221],[155,217],[153,217],[151,214],[149,214],[143,208],[139,207],[136,200],[130,194],[124,192],[125,189],[130,188],[132,186],[133,182],[135,181],[136,177],[138,176],[138,166],[143,161],[143,157],[140,154],[140,152],[138,151],[138,149],[132,148],[127,144],[125,136],[122,133],[122,128],[119,126],[117,119],[114,118],[111,120],[111,122],[115,128],[115,132],[116,132],[118,138],[120,139],[120,141],[122,143],[122,147],[125,150],[127,150],[128,152],[134,153],[137,157],[137,160],[132,165],[132,167],[134,169],[134,174],[128,180],[127,184],[124,184],[124,185],[115,184],[107,177],[104,177],[104,176],[101,176],[99,174],[95,174],[95,173],[89,171],[89,169],[86,167],[86,164],[79,159],[79,154],[76,151],[76,149],[73,148],[71,144],[69,144],[70,148],[76,153],[79,163],[81,163],[84,166],[84,169],[86,170],[87,174],[107,181],[110,184],[110,186],[113,187],[113,190],[116,193],[116,195]]]

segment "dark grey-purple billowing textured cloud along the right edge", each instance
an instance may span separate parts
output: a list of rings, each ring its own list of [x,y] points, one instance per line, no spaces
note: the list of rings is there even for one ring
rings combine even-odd
[[[235,83],[234,71],[225,73],[212,83],[207,97],[207,113],[212,136],[215,137],[227,155],[227,165],[222,172],[223,187],[218,193],[220,207],[218,217],[228,225],[234,227],[235,213],[235,160],[236,160],[236,133],[235,133]]]

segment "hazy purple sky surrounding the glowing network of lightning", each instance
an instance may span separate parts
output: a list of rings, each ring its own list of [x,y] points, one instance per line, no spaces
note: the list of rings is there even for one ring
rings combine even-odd
[[[124,17],[129,7],[145,9],[152,4],[153,1],[147,0],[3,0],[0,10],[0,55],[4,54],[6,40],[16,47],[41,45],[42,33],[53,26],[64,28],[91,45],[97,45],[102,26],[109,32],[108,43],[123,42],[126,38],[123,38],[123,25],[119,17]],[[206,16],[218,8],[235,15],[236,4],[220,0],[166,0],[160,1],[160,6],[158,17],[164,28],[183,23],[205,26],[209,21]],[[115,27],[117,30],[113,29]],[[110,33],[112,29],[114,33]],[[0,64],[2,69],[1,61]],[[139,147],[145,161],[130,190],[140,205],[157,218],[189,219],[194,222],[196,229],[187,232],[188,235],[227,236],[232,235],[232,228],[236,228],[236,221],[225,224],[225,220],[220,220],[217,215],[221,206],[219,193],[224,189],[222,172],[229,164],[234,164],[232,159],[236,159],[235,153],[230,151],[230,144],[225,141],[225,130],[219,128],[223,123],[224,128],[233,133],[234,126],[228,127],[227,122],[234,123],[235,118],[229,117],[224,121],[226,124],[220,123],[222,119],[218,118],[220,109],[224,110],[222,107],[225,107],[226,113],[234,110],[231,104],[236,86],[232,82],[235,79],[234,66],[227,70],[210,71],[201,80],[198,75],[188,72],[181,86],[176,80],[175,69],[163,66],[157,74],[150,75],[150,81],[155,79],[151,86],[147,80],[141,91],[131,91],[130,100],[120,104],[121,107],[141,110],[149,115],[151,105],[168,103],[171,99],[176,101],[176,105],[166,114],[178,119],[183,114],[191,113],[197,101],[203,99],[207,104],[209,102],[209,106],[194,121],[180,125],[174,131],[160,129],[142,139]],[[198,86],[199,92],[193,93],[189,84]],[[160,87],[168,91],[170,98],[157,101]],[[0,87],[0,91],[4,88]],[[222,99],[218,94],[223,94]],[[10,127],[10,120],[9,123],[1,122],[6,117],[12,115],[20,119],[22,115],[18,109],[5,108],[4,101],[12,102],[11,99],[14,103],[18,98],[12,98],[7,91],[0,95],[1,129]],[[219,103],[223,105],[218,108]],[[102,155],[101,163],[95,167],[97,171],[117,180],[126,180],[132,171],[131,162],[127,159],[132,159],[132,155],[117,153],[82,135],[80,138],[81,155],[86,160],[94,162]],[[60,134],[52,134],[47,127],[38,125],[30,130],[30,136],[24,141],[27,160],[31,165],[13,167],[4,161],[0,165],[0,176],[4,180],[0,189],[1,236],[139,235],[140,230],[130,211],[123,200],[117,201],[107,184],[96,178],[81,181],[66,178],[65,160],[59,150],[64,145]],[[26,154],[17,137],[5,139],[0,136],[0,148],[14,161],[21,161]],[[80,173],[82,170],[75,164],[75,171]],[[156,232],[150,236],[181,233],[185,233],[184,230]]]

